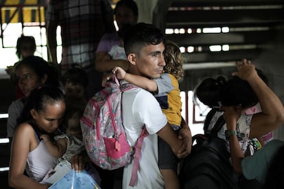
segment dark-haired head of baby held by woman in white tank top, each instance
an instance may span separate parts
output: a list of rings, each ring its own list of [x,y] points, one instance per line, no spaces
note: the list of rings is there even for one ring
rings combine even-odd
[[[81,136],[80,118],[84,114],[84,105],[67,104],[64,115],[63,130],[67,134]]]

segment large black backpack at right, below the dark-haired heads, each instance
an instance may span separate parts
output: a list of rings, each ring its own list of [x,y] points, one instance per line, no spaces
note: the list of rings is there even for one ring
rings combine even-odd
[[[217,138],[225,121],[218,118],[213,129],[207,131],[211,118],[217,110],[212,109],[204,122],[204,134],[192,137],[196,142],[191,153],[185,157],[180,170],[180,188],[187,189],[230,189],[238,188],[238,176],[230,163],[226,141]]]

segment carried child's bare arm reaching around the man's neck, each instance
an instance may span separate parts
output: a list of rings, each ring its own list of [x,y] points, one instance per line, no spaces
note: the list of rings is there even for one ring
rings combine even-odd
[[[124,79],[130,82],[130,84],[134,84],[136,86],[144,88],[145,90],[156,92],[156,90],[158,89],[156,81],[154,81],[153,79],[126,73],[126,71],[124,71],[123,68],[119,66],[115,66],[115,68],[113,68],[113,73],[117,75],[117,79]]]

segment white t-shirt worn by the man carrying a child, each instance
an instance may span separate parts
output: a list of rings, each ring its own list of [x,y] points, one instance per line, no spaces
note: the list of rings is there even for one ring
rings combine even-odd
[[[122,118],[129,144],[134,144],[139,138],[145,124],[149,136],[143,140],[137,185],[134,188],[165,188],[163,177],[158,169],[158,138],[156,132],[167,124],[158,101],[154,96],[141,88],[126,90],[122,95]],[[124,167],[122,188],[129,186],[132,175],[133,161]]]

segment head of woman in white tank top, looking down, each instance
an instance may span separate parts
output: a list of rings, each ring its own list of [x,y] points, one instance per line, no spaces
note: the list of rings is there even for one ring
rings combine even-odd
[[[58,129],[65,112],[64,95],[60,88],[35,88],[27,98],[20,122],[32,121],[49,134]]]

